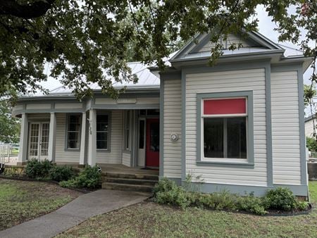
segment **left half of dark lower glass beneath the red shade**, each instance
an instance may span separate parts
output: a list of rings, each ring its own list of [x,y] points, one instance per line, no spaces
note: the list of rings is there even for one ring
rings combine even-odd
[[[223,158],[223,118],[204,118],[204,157]]]

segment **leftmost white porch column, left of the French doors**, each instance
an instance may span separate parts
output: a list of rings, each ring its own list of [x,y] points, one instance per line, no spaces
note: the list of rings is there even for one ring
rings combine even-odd
[[[23,165],[27,159],[27,130],[28,130],[27,114],[22,113],[21,131],[20,131],[20,148],[18,156],[18,165]]]

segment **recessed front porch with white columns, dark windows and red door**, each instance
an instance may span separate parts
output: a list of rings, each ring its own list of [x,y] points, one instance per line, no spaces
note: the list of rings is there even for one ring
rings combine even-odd
[[[159,108],[24,113],[18,163],[31,158],[77,165],[97,163],[118,173],[148,173],[139,168],[158,171]]]

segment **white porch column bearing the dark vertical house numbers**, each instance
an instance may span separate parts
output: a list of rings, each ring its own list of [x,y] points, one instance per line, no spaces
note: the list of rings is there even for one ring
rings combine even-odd
[[[88,164],[96,164],[96,110],[89,110]]]

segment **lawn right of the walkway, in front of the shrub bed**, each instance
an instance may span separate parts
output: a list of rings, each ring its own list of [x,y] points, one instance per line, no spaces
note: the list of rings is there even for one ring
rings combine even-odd
[[[310,182],[317,202],[317,182]],[[287,217],[257,216],[225,211],[143,202],[98,215],[58,235],[61,237],[316,237],[317,211]]]

